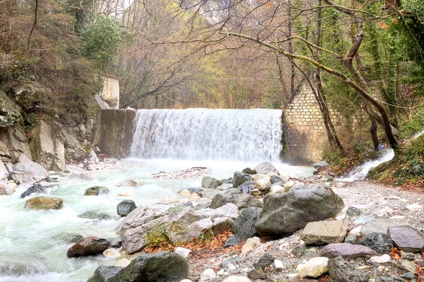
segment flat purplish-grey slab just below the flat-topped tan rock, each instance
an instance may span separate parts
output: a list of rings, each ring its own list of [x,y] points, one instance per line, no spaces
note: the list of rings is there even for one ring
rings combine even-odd
[[[351,260],[358,257],[372,256],[376,252],[370,247],[361,245],[352,245],[348,243],[335,243],[326,245],[321,249],[320,257],[328,257],[334,259],[335,257],[343,257],[343,259]]]

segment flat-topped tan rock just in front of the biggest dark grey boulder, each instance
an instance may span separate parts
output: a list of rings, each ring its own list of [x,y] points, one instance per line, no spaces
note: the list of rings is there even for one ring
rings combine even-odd
[[[347,228],[343,221],[314,221],[307,223],[300,233],[300,239],[313,245],[341,243],[346,233]]]

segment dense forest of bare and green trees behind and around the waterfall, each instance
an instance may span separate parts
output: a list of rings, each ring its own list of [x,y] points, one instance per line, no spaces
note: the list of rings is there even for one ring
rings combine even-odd
[[[3,0],[1,90],[51,90],[30,124],[93,117],[102,72],[122,77],[122,108],[285,109],[307,83],[338,163],[422,129],[420,2]]]

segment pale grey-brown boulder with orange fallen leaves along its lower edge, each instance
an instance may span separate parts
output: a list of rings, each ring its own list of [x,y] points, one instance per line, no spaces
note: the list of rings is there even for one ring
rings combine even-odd
[[[173,242],[187,242],[208,231],[216,235],[228,230],[237,216],[238,208],[232,203],[216,209],[187,207],[170,223],[167,235]]]

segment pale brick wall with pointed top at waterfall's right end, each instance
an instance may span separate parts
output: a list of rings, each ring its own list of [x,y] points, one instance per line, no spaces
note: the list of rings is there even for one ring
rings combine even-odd
[[[322,159],[329,141],[317,99],[306,81],[285,109],[283,124],[288,163],[307,165]]]

